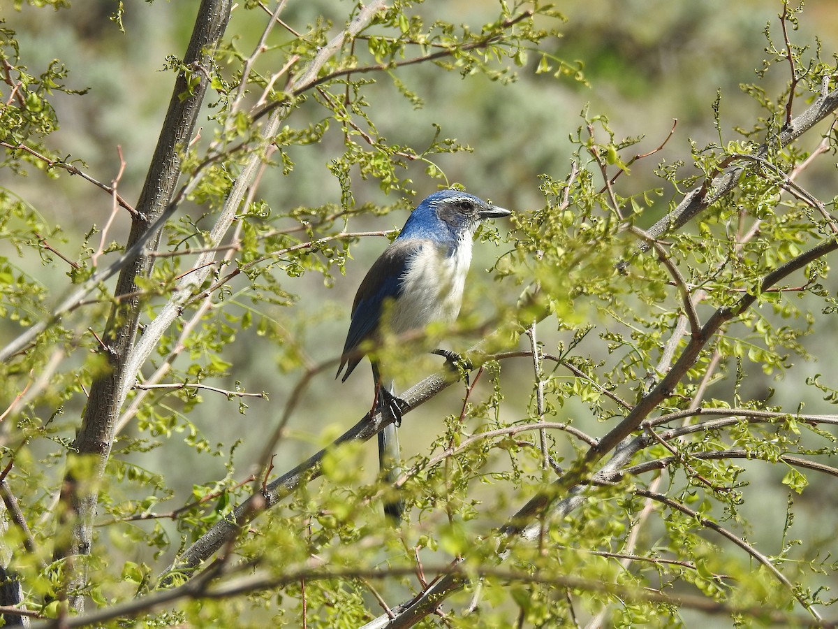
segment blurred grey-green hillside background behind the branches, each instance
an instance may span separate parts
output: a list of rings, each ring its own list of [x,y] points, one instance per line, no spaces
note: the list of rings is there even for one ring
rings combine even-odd
[[[194,20],[196,1],[163,2],[152,4],[137,0],[126,3],[124,18],[126,32],[120,33],[108,17],[116,3],[106,0],[86,0],[75,3],[70,11],[24,7],[15,12],[11,3],[0,4],[0,17],[18,31],[23,62],[33,73],[43,70],[55,57],[70,67],[68,84],[77,89],[88,87],[86,96],[58,95],[54,106],[58,111],[60,130],[49,138],[49,146],[58,153],[82,159],[102,181],[110,181],[117,172],[116,147],[122,148],[127,169],[119,190],[127,200],[136,200],[142,186],[147,164],[153,152],[163,113],[173,85],[173,74],[161,71],[167,55],[183,55]],[[299,29],[317,15],[324,15],[335,24],[343,23],[349,3],[290,2],[283,19]],[[465,185],[469,192],[489,198],[514,211],[526,212],[544,205],[539,191],[540,174],[563,179],[570,169],[571,145],[567,138],[582,124],[579,117],[585,107],[592,113],[608,116],[611,127],[620,137],[644,136],[644,140],[629,149],[642,153],[657,147],[670,132],[677,119],[675,135],[654,158],[639,162],[630,177],[621,180],[621,192],[645,190],[660,185],[653,169],[661,160],[667,163],[683,159],[690,161],[690,140],[698,145],[717,142],[719,134],[713,126],[711,105],[716,92],[722,95],[722,139],[737,139],[732,129],[749,127],[762,115],[754,101],[742,93],[740,85],[756,81],[755,70],[766,57],[763,30],[779,37],[777,15],[779,2],[768,0],[701,0],[701,2],[671,2],[671,0],[586,0],[560,3],[557,7],[566,14],[561,27],[563,36],[546,41],[541,51],[547,51],[567,62],[580,63],[588,85],[570,79],[556,80],[551,73],[535,74],[541,51],[531,51],[527,65],[517,69],[516,81],[502,85],[478,76],[463,80],[456,73],[438,71],[432,66],[417,65],[399,73],[401,81],[417,91],[424,107],[416,109],[398,96],[385,76],[368,95],[370,111],[380,132],[392,143],[411,146],[427,144],[433,136],[432,123],[442,124],[442,135],[457,138],[473,148],[473,153],[444,155],[437,164],[449,182]],[[427,19],[443,18],[454,23],[469,23],[478,28],[494,18],[495,3],[447,2],[421,5],[416,10]],[[439,12],[439,13],[435,13]],[[255,44],[264,23],[261,13],[234,12],[228,36],[241,38],[241,49]],[[820,37],[825,56],[838,49],[838,4],[834,0],[814,0],[807,3],[799,31],[792,33],[798,44],[815,45]],[[278,59],[278,58],[277,58]],[[265,63],[270,60],[266,58]],[[787,81],[787,69],[780,65],[768,71],[761,86],[769,94],[779,94]],[[207,101],[212,101],[210,95]],[[802,109],[800,99],[797,107]],[[317,120],[316,107],[303,108],[295,114],[293,123],[303,127]],[[302,116],[302,117],[300,117]],[[211,135],[209,133],[208,135]],[[206,141],[207,138],[204,138]],[[814,148],[819,141],[810,133],[803,143]],[[261,185],[261,195],[277,209],[302,205],[339,203],[340,190],[328,173],[327,164],[341,150],[339,133],[330,133],[322,143],[298,148],[292,154],[297,166],[282,177],[269,175]],[[436,189],[439,182],[424,173],[424,164],[412,164],[404,176],[413,180],[416,197],[411,203]],[[100,224],[111,211],[111,200],[100,190],[77,177],[62,175],[49,179],[43,172],[28,169],[27,178],[14,178],[0,173],[0,185],[15,190],[29,203],[39,208],[49,221],[64,226],[68,242],[62,251],[75,257],[81,239],[91,223]],[[689,174],[685,171],[684,174]],[[835,195],[835,158],[828,156],[822,164],[806,174],[804,185],[830,199]],[[373,181],[354,179],[353,193],[361,204],[393,203],[395,199],[383,195]],[[675,192],[667,190],[658,211]],[[184,212],[199,211],[186,206]],[[369,216],[355,220],[353,231],[384,230],[401,226],[406,211],[396,211],[385,217]],[[121,216],[112,232],[121,241],[127,231],[127,221]],[[655,216],[641,222],[652,222]],[[506,226],[499,225],[503,234]],[[337,277],[334,288],[324,286],[323,278],[308,274],[290,283],[288,289],[299,295],[297,307],[277,309],[273,316],[287,325],[303,351],[316,362],[335,359],[343,346],[348,325],[349,306],[354,291],[372,260],[385,247],[383,239],[364,239],[354,247],[354,262],[349,263],[345,277]],[[503,252],[501,246],[484,244],[475,247],[475,260],[464,310],[490,314],[492,300],[487,295],[497,291],[484,273],[494,258]],[[62,268],[41,266],[37,258],[21,259],[23,268],[38,276],[53,291],[56,299],[65,288]],[[832,290],[835,282],[831,283]],[[514,299],[510,295],[508,299]],[[303,314],[302,318],[299,318]],[[298,319],[299,318],[299,319]],[[301,325],[304,319],[306,325]],[[6,337],[13,332],[9,326],[0,328]],[[217,386],[232,388],[239,380],[248,391],[266,391],[270,401],[250,400],[246,415],[238,413],[238,403],[225,398],[211,400],[199,409],[196,424],[213,443],[230,444],[244,429],[256,429],[256,434],[268,433],[277,422],[278,414],[295,386],[297,376],[282,374],[277,369],[276,347],[257,338],[253,331],[243,333],[230,347],[228,360],[233,362],[234,375]],[[542,337],[551,343],[546,330]],[[467,343],[468,339],[463,340]],[[757,397],[777,390],[775,403],[793,410],[806,403],[808,412],[828,413],[830,408],[810,390],[801,390],[799,382],[806,375],[831,372],[830,384],[835,386],[835,347],[838,335],[834,315],[821,317],[815,335],[808,346],[820,362],[799,362],[783,380],[763,375],[758,368],[749,374],[746,386]],[[796,360],[796,359],[795,359]],[[510,362],[504,366],[510,380],[510,392],[520,383],[529,395],[531,372],[528,361]],[[211,383],[211,382],[210,382]],[[510,386],[511,385],[511,386]],[[482,386],[488,386],[486,384]],[[764,389],[763,393],[760,390]],[[485,392],[485,390],[484,390]],[[360,418],[371,403],[371,378],[365,365],[354,373],[349,382],[334,382],[331,372],[323,372],[308,390],[292,420],[292,438],[285,439],[275,461],[277,470],[286,470],[311,454],[339,430],[348,428]],[[402,429],[402,445],[406,455],[422,452],[436,434],[441,418],[458,412],[462,390],[453,387],[433,403],[406,419]],[[478,395],[480,393],[478,392]],[[204,398],[210,398],[206,393]],[[509,413],[520,413],[525,403],[508,404]],[[64,418],[72,425],[80,417],[85,400],[78,398],[75,406],[65,408]],[[580,422],[582,428],[595,434],[604,432],[585,424],[586,409],[569,405],[563,409],[567,417]],[[246,442],[238,460],[250,460],[258,455],[261,443]],[[183,470],[181,489],[188,491],[192,483],[211,483],[224,476],[223,458],[206,460],[198,457],[184,444],[173,443],[148,455],[154,460],[144,461],[148,467],[162,471]],[[196,469],[185,461],[203,461]],[[370,477],[375,473],[374,447],[369,447]],[[758,464],[758,470],[765,470]],[[244,472],[242,472],[244,476]],[[768,526],[763,533],[775,535],[782,526],[784,491],[777,489],[779,481],[771,477],[760,480],[749,475],[753,491],[763,499],[753,502],[749,509],[764,510]],[[808,503],[813,509],[838,507],[834,492],[819,491],[818,479],[804,492],[799,504]],[[774,517],[773,514],[780,514]],[[499,518],[502,517],[499,514]],[[822,522],[822,521],[821,521]],[[803,526],[805,526],[803,522]],[[772,530],[768,530],[772,529]],[[828,532],[832,535],[834,532]],[[818,534],[813,531],[813,535]],[[824,532],[820,531],[823,535]],[[825,543],[827,540],[825,539]]]

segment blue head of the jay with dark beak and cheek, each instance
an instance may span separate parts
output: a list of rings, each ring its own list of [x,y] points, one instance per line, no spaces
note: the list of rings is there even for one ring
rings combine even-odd
[[[472,237],[480,221],[511,213],[459,190],[440,190],[416,205],[400,237],[442,242],[463,240]]]

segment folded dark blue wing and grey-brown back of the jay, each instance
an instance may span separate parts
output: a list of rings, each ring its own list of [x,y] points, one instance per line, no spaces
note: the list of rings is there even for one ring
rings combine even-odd
[[[344,353],[340,357],[338,376],[346,366],[342,381],[349,377],[364,357],[359,351],[360,344],[378,331],[385,300],[398,299],[407,265],[424,244],[422,240],[412,238],[396,239],[373,263],[361,282],[352,304],[352,322],[346,335]]]

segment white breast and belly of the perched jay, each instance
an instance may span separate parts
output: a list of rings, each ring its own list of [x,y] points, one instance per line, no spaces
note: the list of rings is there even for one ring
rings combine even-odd
[[[403,334],[433,321],[457,319],[463,286],[471,264],[472,239],[467,234],[446,256],[447,247],[426,242],[408,263],[401,295],[391,311],[391,330]]]

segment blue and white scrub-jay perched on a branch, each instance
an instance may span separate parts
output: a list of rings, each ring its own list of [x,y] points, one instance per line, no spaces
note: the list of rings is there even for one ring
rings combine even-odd
[[[335,377],[346,366],[341,382],[346,381],[365,356],[366,340],[380,342],[385,312],[383,323],[396,335],[424,330],[433,321],[455,320],[463,301],[474,231],[484,219],[510,214],[509,210],[458,190],[434,192],[417,205],[399,237],[373,263],[361,282]],[[401,409],[392,385],[386,387],[381,381],[378,362],[372,358],[370,361],[375,400],[394,420],[378,434],[379,462],[387,481],[392,483],[401,474],[396,432],[396,426],[401,424]],[[401,501],[385,503],[384,507],[385,513],[396,521],[401,519],[402,508]]]

